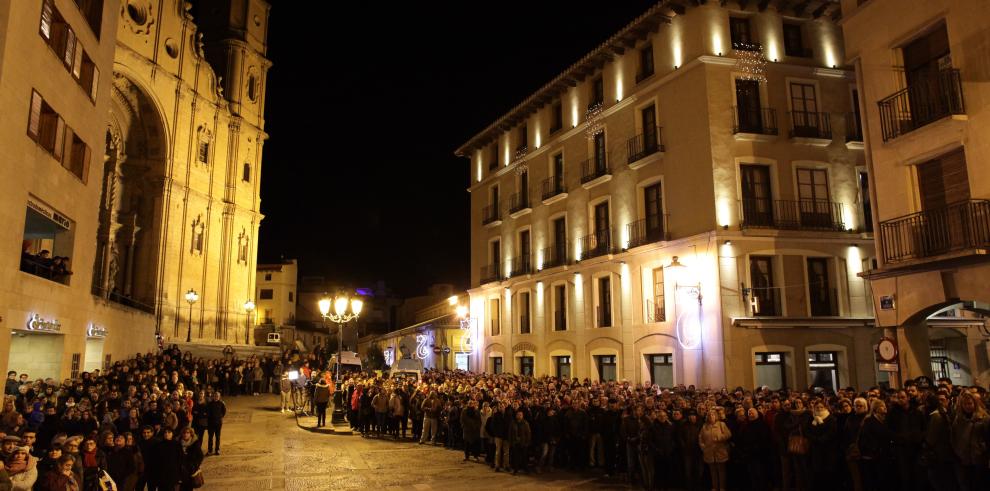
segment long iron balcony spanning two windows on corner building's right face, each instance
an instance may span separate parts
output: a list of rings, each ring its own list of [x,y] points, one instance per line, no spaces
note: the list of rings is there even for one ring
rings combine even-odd
[[[842,232],[842,203],[826,200],[740,200],[742,228]]]

